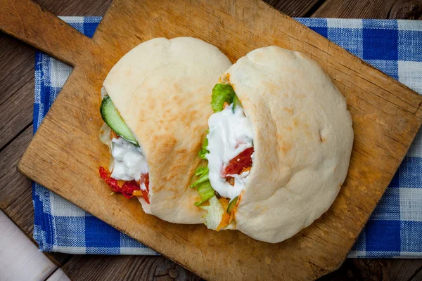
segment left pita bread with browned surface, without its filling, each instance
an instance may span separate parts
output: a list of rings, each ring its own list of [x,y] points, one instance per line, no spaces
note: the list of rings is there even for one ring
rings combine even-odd
[[[143,209],[165,221],[204,221],[189,185],[212,114],[212,87],[230,65],[200,39],[156,38],[124,55],[103,83],[147,158],[151,204]]]

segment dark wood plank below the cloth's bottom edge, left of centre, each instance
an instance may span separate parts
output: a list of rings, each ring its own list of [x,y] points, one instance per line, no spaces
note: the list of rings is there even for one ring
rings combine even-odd
[[[73,256],[63,266],[78,280],[202,280],[163,256]]]

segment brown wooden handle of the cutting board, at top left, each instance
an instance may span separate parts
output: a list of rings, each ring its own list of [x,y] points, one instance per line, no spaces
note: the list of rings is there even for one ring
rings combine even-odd
[[[0,0],[0,7],[1,31],[64,63],[77,65],[83,49],[94,44],[92,39],[31,0]]]

